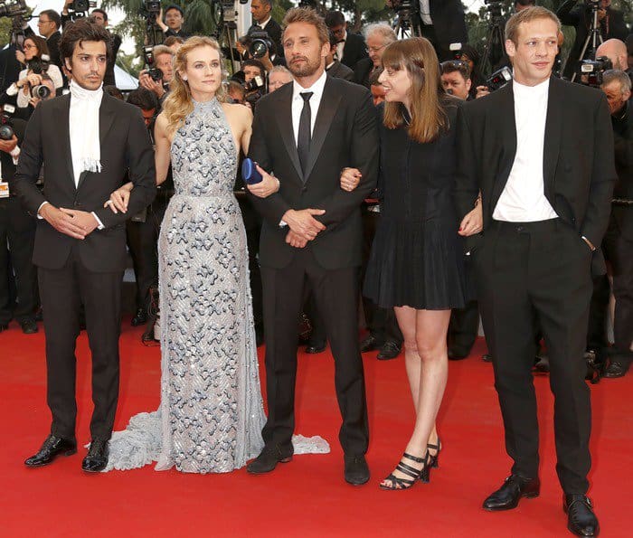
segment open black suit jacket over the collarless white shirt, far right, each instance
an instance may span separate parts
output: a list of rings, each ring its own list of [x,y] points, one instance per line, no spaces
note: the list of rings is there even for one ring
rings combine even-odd
[[[513,85],[468,101],[458,113],[458,216],[472,210],[481,191],[484,233],[515,161]],[[597,247],[609,223],[616,181],[613,133],[607,99],[600,90],[550,79],[543,146],[545,197],[564,222]],[[477,236],[468,248],[477,248]],[[600,250],[595,274],[606,271]]]

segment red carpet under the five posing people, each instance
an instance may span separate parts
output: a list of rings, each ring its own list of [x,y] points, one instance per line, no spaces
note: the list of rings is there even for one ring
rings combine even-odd
[[[122,383],[116,428],[138,411],[156,409],[159,349],[139,342],[124,324]],[[473,356],[450,363],[449,386],[439,418],[445,445],[429,485],[384,492],[380,479],[400,458],[413,420],[402,357],[378,362],[365,354],[372,441],[367,455],[372,479],[354,488],[343,481],[337,442],[339,413],[328,353],[301,355],[298,433],[321,435],[326,456],[298,456],[269,476],[245,470],[228,475],[157,473],[145,467],[86,476],[85,449],[50,467],[27,469],[24,458],[40,445],[50,424],[45,405],[44,338],[12,326],[0,335],[0,380],[5,410],[0,447],[0,535],[14,536],[564,536],[561,489],[555,476],[553,399],[539,377],[543,489],[516,510],[490,514],[481,502],[506,476],[510,464],[492,371]],[[90,375],[85,333],[78,345],[80,408],[78,439],[89,437]],[[630,536],[633,478],[633,376],[591,386],[593,397],[593,497],[603,536]]]

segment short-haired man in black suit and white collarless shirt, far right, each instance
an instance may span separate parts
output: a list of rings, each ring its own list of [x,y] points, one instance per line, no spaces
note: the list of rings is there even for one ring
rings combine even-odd
[[[515,80],[465,103],[458,118],[456,203],[481,192],[483,238],[469,241],[491,347],[512,474],[487,510],[515,508],[540,492],[532,378],[534,333],[543,331],[554,394],[556,470],[568,528],[597,535],[586,496],[590,392],[584,381],[591,274],[604,273],[600,243],[616,178],[607,99],[551,77],[560,22],[543,7],[514,14],[505,51]],[[598,247],[598,248],[597,248]]]

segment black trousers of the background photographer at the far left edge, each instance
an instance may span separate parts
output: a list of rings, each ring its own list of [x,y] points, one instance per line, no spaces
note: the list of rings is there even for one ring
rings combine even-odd
[[[33,266],[35,219],[24,211],[15,197],[0,199],[0,325],[12,317],[33,319],[37,282]],[[11,292],[12,269],[15,293]],[[15,295],[15,302],[14,296]]]

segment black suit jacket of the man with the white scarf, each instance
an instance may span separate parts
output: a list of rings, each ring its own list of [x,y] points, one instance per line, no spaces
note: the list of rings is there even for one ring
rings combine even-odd
[[[11,188],[33,215],[44,201],[55,207],[95,212],[105,228],[76,240],[38,219],[33,263],[61,269],[78,245],[83,265],[94,272],[126,267],[125,222],[152,202],[156,195],[154,151],[140,109],[103,95],[99,109],[101,172],[84,172],[75,187],[72,171],[69,112],[71,96],[43,101],[33,112]],[[44,190],[35,186],[44,165]],[[134,184],[128,212],[117,214],[103,203],[129,173]]]

